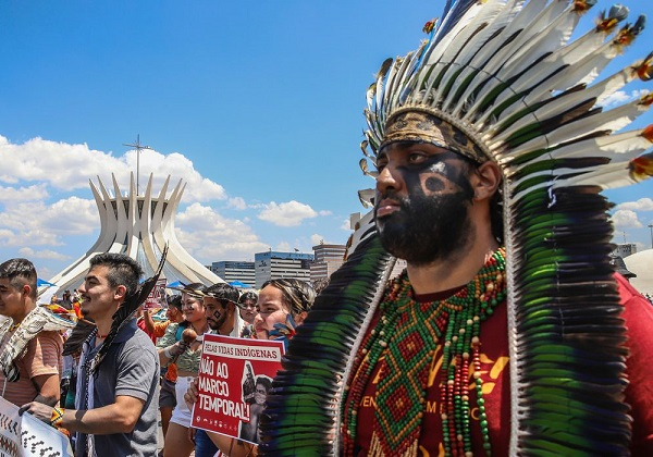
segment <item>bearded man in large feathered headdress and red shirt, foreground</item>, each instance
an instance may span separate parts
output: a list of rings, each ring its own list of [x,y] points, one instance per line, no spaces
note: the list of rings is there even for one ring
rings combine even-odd
[[[653,139],[613,133],[653,97],[601,101],[653,72],[589,85],[644,22],[615,7],[567,44],[593,3],[449,1],[383,65],[373,214],[291,342],[261,453],[653,455],[653,309],[600,195],[645,177]]]

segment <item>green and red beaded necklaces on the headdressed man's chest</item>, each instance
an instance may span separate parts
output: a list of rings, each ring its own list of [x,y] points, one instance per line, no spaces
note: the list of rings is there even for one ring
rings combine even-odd
[[[496,250],[475,279],[453,296],[420,304],[412,298],[406,271],[390,283],[375,329],[354,358],[353,378],[342,407],[345,455],[354,454],[357,409],[381,357],[386,370],[377,387],[372,455],[415,455],[426,407],[428,374],[443,345],[440,396],[446,455],[472,450],[470,368],[477,395],[483,448],[491,452],[480,378],[480,324],[505,299],[505,249]]]

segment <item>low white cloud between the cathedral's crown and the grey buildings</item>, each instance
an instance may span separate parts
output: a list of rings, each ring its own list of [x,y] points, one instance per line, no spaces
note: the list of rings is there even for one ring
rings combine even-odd
[[[226,219],[212,208],[193,203],[175,218],[182,246],[197,260],[254,260],[254,252],[268,250],[251,227],[243,221]]]

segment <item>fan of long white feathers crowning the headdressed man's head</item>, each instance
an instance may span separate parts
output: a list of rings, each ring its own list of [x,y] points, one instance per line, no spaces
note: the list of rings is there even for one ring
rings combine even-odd
[[[651,79],[653,54],[591,84],[641,33],[645,17],[619,25],[628,9],[615,5],[599,16],[593,29],[569,41],[581,15],[595,2],[453,2],[438,26],[435,21],[427,23],[428,40],[415,52],[386,60],[378,72],[367,92],[365,156],[374,162],[382,147],[398,140],[441,146],[406,127],[405,118],[412,112],[422,121],[441,121],[440,139],[476,161],[492,159],[505,165],[537,160],[543,152],[563,159],[591,151],[609,163],[557,178],[564,185],[609,188],[648,177],[652,155],[638,156],[651,146],[653,127],[613,132],[644,112],[653,95],[611,110],[601,103],[636,78]],[[460,144],[459,133],[468,145]],[[368,172],[366,159],[360,165],[366,174],[374,174]]]

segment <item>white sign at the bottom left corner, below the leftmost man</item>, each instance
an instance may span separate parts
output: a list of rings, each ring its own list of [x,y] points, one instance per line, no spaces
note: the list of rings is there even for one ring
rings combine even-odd
[[[0,457],[73,457],[67,436],[0,397]]]

